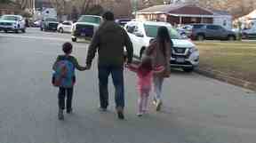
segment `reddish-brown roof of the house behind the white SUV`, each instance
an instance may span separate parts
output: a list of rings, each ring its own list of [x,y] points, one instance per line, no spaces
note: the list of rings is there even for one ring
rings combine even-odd
[[[139,14],[143,13],[171,13],[181,15],[213,15],[210,10],[191,4],[168,4],[156,5],[147,9],[140,10]]]

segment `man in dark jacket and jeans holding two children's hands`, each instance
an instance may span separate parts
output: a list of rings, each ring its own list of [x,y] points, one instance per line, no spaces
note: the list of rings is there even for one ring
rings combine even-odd
[[[132,63],[132,42],[124,28],[116,24],[114,14],[105,12],[104,22],[92,38],[87,53],[86,65],[91,68],[92,60],[98,51],[100,110],[108,108],[108,76],[111,74],[116,89],[116,112],[118,118],[124,119],[124,46],[127,52],[127,63]]]

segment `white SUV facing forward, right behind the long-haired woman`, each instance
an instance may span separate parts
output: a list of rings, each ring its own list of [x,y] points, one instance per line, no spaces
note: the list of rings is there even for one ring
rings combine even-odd
[[[182,68],[186,72],[193,71],[199,64],[199,52],[196,45],[188,39],[183,39],[180,34],[172,28],[172,25],[165,22],[152,21],[130,21],[125,25],[125,30],[130,36],[134,48],[134,56],[139,57],[143,46],[148,46],[152,38],[156,38],[159,27],[169,29],[172,38],[172,68]]]

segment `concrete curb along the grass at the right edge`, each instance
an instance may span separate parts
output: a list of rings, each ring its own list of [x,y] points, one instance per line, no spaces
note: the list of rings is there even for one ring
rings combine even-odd
[[[243,79],[232,77],[227,75],[226,73],[223,73],[217,70],[197,68],[195,69],[195,72],[200,75],[205,75],[207,77],[211,77],[225,83],[231,83],[236,86],[240,86],[252,91],[256,91],[256,83],[252,83],[252,82],[245,81]]]

